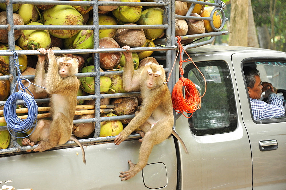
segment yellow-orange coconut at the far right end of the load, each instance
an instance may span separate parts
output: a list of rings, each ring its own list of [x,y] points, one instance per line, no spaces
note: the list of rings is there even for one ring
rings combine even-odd
[[[214,9],[214,7],[204,7],[204,11],[202,11],[202,13],[200,13],[201,17],[209,17],[210,13],[212,12],[212,9]],[[213,17],[212,17],[212,23],[214,24],[215,28],[219,28],[221,27],[221,15],[219,15],[219,13],[217,11],[215,11]],[[210,21],[204,21],[204,28],[206,29],[206,32],[213,32],[214,30],[212,29],[212,27],[210,26]]]

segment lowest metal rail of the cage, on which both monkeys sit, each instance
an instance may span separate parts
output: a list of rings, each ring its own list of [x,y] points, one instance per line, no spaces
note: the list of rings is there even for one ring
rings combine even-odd
[[[140,134],[131,134],[127,137],[127,139],[134,139],[141,137]],[[89,139],[80,139],[80,143],[82,145],[87,143],[97,143],[97,142],[105,142],[105,141],[113,141],[116,138],[116,136],[108,136],[108,137],[98,137],[98,138],[89,138]],[[67,147],[69,145],[77,145],[74,141],[68,141],[63,145],[57,145],[56,147]],[[7,154],[7,153],[14,153],[14,152],[21,152],[26,150],[33,150],[38,145],[34,146],[22,146],[22,147],[13,147],[13,148],[7,148],[7,149],[1,149],[0,154]]]

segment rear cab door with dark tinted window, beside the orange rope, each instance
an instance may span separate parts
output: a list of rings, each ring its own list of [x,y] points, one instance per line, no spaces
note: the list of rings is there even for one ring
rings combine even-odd
[[[176,120],[176,131],[190,152],[186,155],[180,147],[182,189],[251,188],[250,144],[228,61],[196,62],[207,87],[201,108],[189,119]],[[184,78],[204,94],[204,80],[191,62],[184,67]]]

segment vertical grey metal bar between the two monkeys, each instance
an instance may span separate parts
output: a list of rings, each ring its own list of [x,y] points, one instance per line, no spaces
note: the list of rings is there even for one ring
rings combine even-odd
[[[98,23],[98,0],[93,0],[95,3],[93,7],[93,25],[95,29],[94,33],[94,49],[99,48],[99,23]],[[94,54],[94,72],[96,76],[94,77],[94,88],[95,88],[95,131],[94,138],[99,137],[100,134],[100,65],[99,65],[99,53]]]

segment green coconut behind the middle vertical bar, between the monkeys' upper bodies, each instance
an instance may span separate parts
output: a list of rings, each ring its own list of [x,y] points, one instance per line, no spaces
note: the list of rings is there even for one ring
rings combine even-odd
[[[102,69],[100,71],[103,71]],[[94,66],[86,66],[82,68],[80,72],[94,72]],[[94,77],[82,77],[80,78],[81,85],[80,87],[84,92],[89,94],[94,94]],[[111,87],[111,80],[108,76],[100,76],[100,94],[105,94]]]

